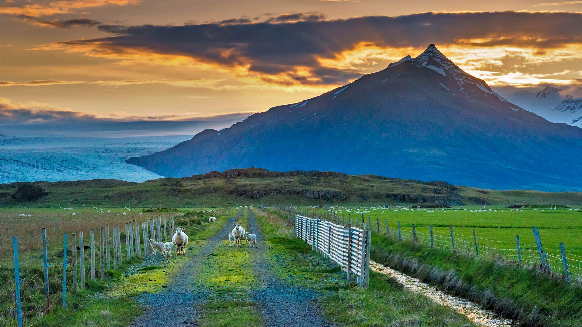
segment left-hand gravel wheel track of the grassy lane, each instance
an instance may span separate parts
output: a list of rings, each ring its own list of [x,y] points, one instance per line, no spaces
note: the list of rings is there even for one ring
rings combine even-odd
[[[172,275],[173,282],[166,285],[165,292],[144,293],[137,297],[137,302],[144,305],[144,313],[132,323],[137,327],[159,326],[197,326],[200,311],[198,304],[208,298],[210,292],[195,280],[201,268],[203,258],[210,255],[214,248],[230,232],[230,226],[239,219],[242,211],[236,217],[230,217],[220,232],[212,235],[195,257],[189,258],[181,269]],[[190,250],[190,248],[189,248]]]

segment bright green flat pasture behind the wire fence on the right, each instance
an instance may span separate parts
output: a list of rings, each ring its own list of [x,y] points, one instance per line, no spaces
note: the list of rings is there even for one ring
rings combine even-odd
[[[312,216],[325,216],[321,208],[306,210],[311,211]],[[398,233],[400,226],[403,240],[413,240],[414,233],[417,241],[425,245],[430,245],[432,233],[435,247],[453,250],[454,244],[455,250],[469,255],[487,255],[506,262],[519,261],[528,266],[546,265],[551,272],[559,275],[565,274],[566,261],[569,275],[582,281],[582,211],[578,207],[374,206],[329,207],[325,212],[356,226],[361,226],[362,221],[370,223],[373,231],[379,229],[387,232],[389,228],[393,235]],[[540,234],[544,261],[534,237],[534,227]]]

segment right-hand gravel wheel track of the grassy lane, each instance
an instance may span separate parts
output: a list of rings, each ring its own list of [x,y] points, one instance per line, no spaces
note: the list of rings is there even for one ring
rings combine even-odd
[[[264,318],[267,327],[327,327],[336,326],[327,321],[317,303],[321,296],[315,290],[289,285],[269,271],[267,244],[257,225],[257,217],[248,209],[248,231],[257,234],[257,246],[253,251],[253,263],[260,282],[260,289],[254,290],[253,300]],[[246,227],[246,226],[244,226]]]

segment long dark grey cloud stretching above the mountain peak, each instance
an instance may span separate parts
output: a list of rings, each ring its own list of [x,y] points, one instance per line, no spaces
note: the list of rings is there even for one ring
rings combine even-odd
[[[262,78],[274,81],[281,80],[276,78],[278,75],[302,84],[340,84],[357,73],[325,68],[318,58],[335,58],[361,42],[393,48],[421,48],[431,43],[481,47],[512,44],[543,51],[582,41],[580,13],[419,13],[338,20],[322,20],[322,17],[317,13],[300,13],[252,24],[99,26],[102,31],[118,35],[60,44],[65,47],[92,45],[95,51],[108,55],[122,55],[128,50],[183,55],[222,67],[249,66],[251,73],[271,75]],[[294,75],[297,67],[324,74],[320,80],[306,79],[304,75]]]

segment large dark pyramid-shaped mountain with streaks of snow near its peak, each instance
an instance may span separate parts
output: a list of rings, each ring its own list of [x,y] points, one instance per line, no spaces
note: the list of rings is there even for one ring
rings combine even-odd
[[[416,58],[127,163],[159,175],[260,166],[487,189],[582,189],[582,129],[500,97],[431,44]]]

